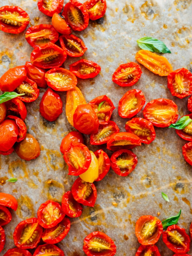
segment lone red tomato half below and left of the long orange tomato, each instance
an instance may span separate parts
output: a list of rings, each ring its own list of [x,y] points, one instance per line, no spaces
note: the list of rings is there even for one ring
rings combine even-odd
[[[112,76],[112,81],[120,86],[132,86],[137,83],[142,74],[140,65],[128,62],[120,65]]]

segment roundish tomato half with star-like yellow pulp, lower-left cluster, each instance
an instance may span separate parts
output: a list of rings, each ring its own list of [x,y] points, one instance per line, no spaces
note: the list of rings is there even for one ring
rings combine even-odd
[[[52,200],[41,204],[37,211],[38,222],[43,228],[55,227],[64,217],[60,204]]]

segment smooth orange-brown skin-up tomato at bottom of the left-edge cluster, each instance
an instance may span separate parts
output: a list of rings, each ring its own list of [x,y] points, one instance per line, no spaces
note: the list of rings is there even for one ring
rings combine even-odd
[[[17,155],[24,160],[30,161],[36,159],[40,155],[40,146],[33,135],[27,133],[24,140],[14,145]]]

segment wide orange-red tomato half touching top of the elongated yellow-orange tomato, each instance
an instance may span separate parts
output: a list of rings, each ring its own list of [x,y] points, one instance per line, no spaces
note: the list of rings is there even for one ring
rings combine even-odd
[[[68,91],[77,84],[76,76],[66,68],[52,68],[45,74],[45,81],[55,91]]]

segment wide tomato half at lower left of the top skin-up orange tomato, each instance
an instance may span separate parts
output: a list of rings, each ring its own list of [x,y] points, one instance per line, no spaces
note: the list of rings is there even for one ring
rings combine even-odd
[[[33,48],[49,42],[55,43],[59,39],[59,33],[50,24],[40,24],[28,28],[25,39]]]

